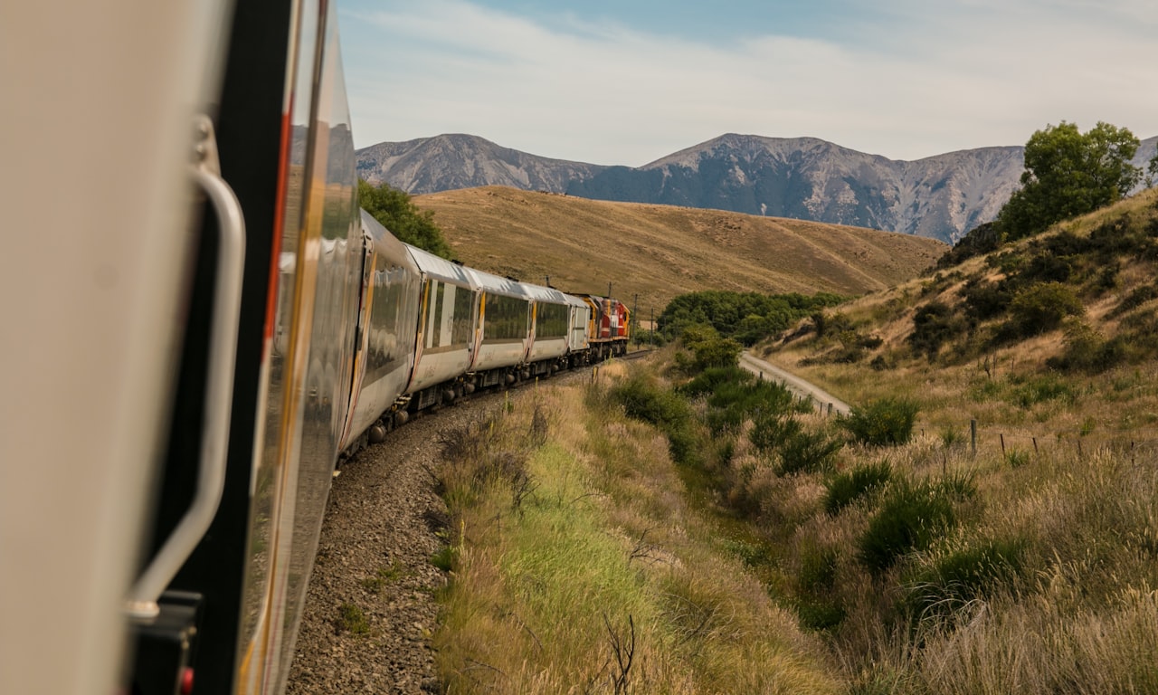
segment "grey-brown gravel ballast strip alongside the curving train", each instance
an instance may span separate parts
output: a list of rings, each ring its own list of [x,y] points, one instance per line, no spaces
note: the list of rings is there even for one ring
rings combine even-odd
[[[431,564],[442,546],[435,529],[446,517],[431,475],[439,432],[466,426],[501,398],[482,395],[420,417],[342,466],[286,693],[440,690],[430,643],[438,621],[434,593],[446,583]],[[357,621],[359,612],[365,622]]]

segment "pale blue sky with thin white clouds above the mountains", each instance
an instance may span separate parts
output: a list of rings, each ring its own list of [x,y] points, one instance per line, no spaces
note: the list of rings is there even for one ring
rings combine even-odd
[[[356,147],[639,167],[725,133],[894,160],[1158,134],[1153,0],[338,0]]]

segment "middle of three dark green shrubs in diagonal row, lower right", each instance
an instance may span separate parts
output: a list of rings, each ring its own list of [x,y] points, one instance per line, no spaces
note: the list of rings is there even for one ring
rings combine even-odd
[[[857,558],[874,575],[884,573],[902,555],[928,549],[953,522],[953,504],[943,487],[894,483],[857,540]]]

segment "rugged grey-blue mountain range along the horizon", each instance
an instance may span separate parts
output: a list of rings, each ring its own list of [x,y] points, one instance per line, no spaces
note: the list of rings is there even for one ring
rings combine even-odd
[[[1142,141],[1145,166],[1158,137]],[[725,134],[643,167],[536,156],[477,136],[444,134],[357,151],[358,175],[410,193],[505,185],[596,200],[728,210],[871,227],[955,243],[1017,190],[1021,146],[915,161],[816,138]]]

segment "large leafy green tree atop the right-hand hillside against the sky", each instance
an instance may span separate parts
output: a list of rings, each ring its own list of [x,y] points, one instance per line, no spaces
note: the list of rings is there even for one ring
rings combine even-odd
[[[1021,189],[997,213],[1003,236],[1032,236],[1126,196],[1142,180],[1142,170],[1130,163],[1139,145],[1129,130],[1101,122],[1086,133],[1064,120],[1033,133],[1025,145]]]

